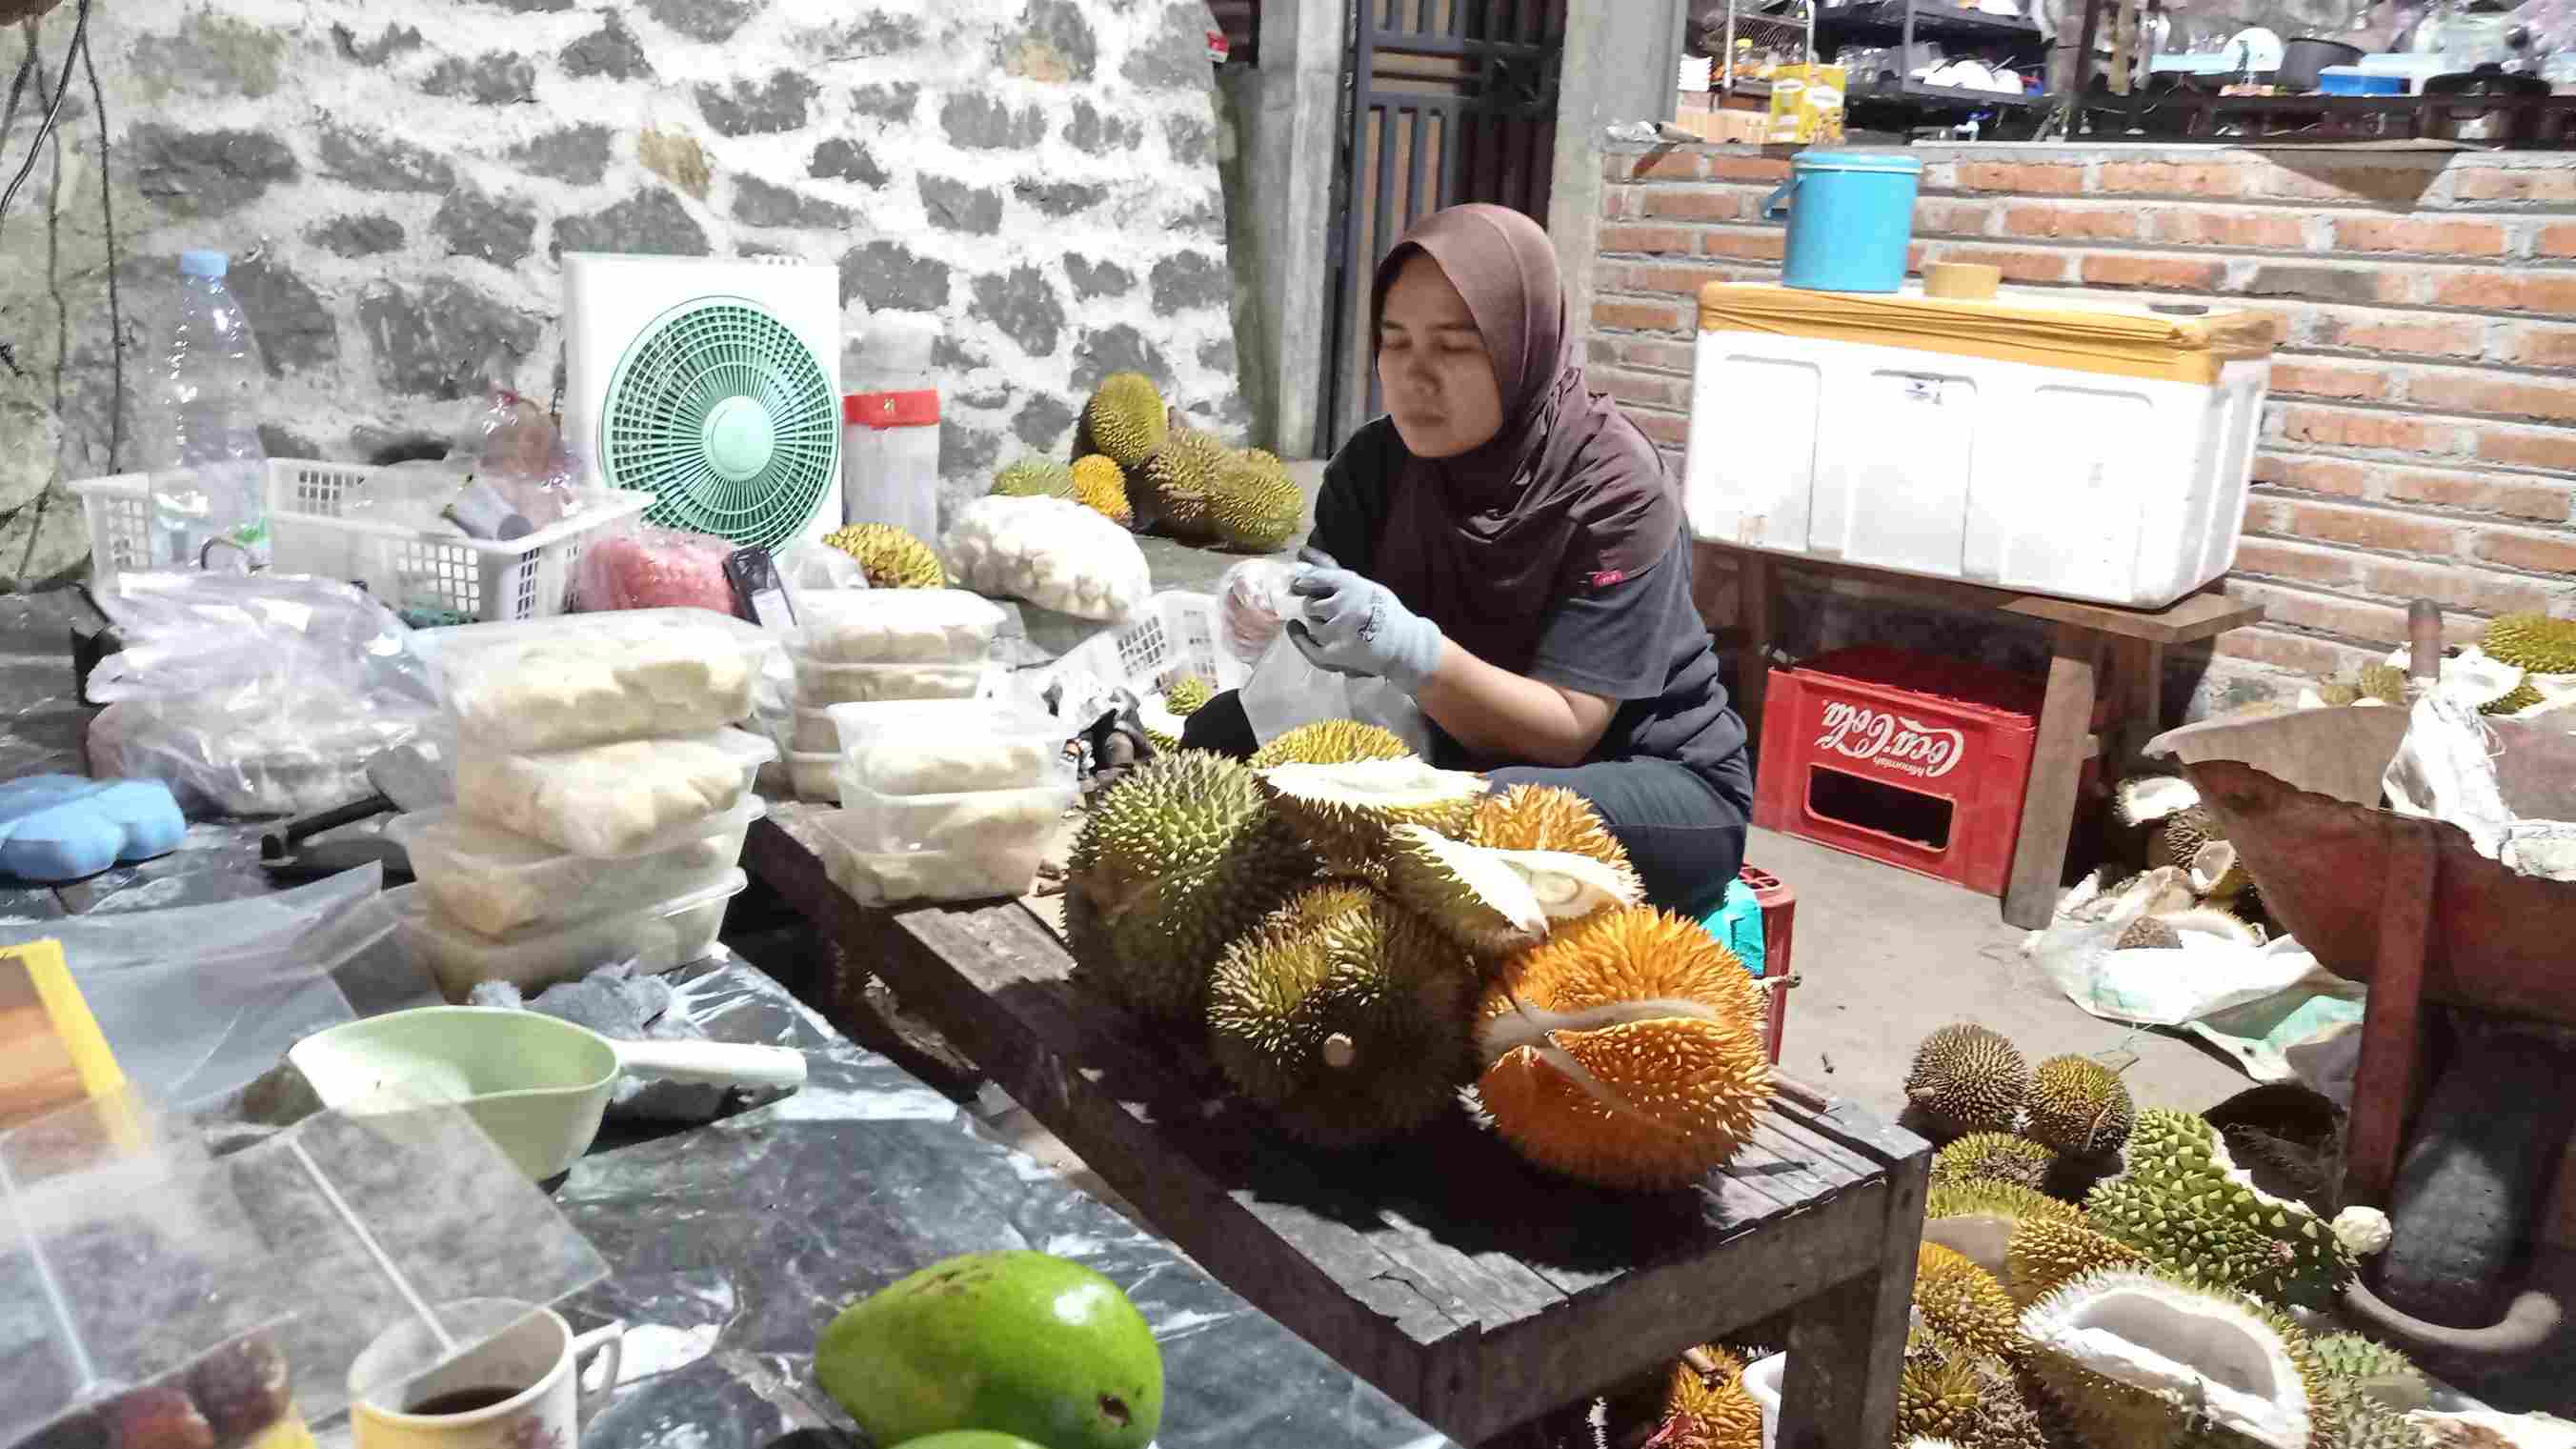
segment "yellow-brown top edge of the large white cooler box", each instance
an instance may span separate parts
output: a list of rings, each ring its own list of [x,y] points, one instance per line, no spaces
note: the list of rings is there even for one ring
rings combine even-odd
[[[2154,312],[2141,302],[2087,294],[2002,294],[1981,302],[1906,291],[1808,291],[1767,281],[1700,289],[1703,333],[1775,333],[1873,343],[2112,376],[2218,382],[2231,361],[2272,356],[2272,320],[2259,312]]]

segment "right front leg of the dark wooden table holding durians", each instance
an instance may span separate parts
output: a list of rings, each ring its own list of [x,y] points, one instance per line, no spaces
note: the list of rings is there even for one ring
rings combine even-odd
[[[1906,1366],[1914,1256],[1924,1235],[1929,1152],[1891,1178],[1878,1271],[1834,1284],[1790,1310],[1777,1449],[1886,1444],[1896,1377]]]

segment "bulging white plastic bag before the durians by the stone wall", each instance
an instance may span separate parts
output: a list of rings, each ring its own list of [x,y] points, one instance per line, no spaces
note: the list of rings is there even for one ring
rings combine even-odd
[[[976,593],[1126,624],[1154,590],[1136,536],[1064,498],[976,498],[958,508],[943,549]]]

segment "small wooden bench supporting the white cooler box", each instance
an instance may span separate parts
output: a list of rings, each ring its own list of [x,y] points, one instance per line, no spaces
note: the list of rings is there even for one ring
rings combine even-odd
[[[2223,593],[2192,593],[2169,608],[2115,608],[2076,603],[2038,593],[1978,588],[1940,578],[1914,578],[1834,559],[1780,557],[1757,549],[1723,549],[1736,565],[1736,627],[1723,642],[1736,657],[1736,701],[1749,730],[1759,735],[1762,696],[1770,681],[1770,652],[1780,624],[1780,570],[1839,572],[1886,583],[1888,588],[1940,598],[1955,608],[1989,608],[2048,624],[2048,694],[2040,704],[2040,730],[2030,753],[2030,789],[2022,792],[2022,830],[2012,846],[2012,882],[2004,890],[2004,920],[2025,931],[2048,926],[2066,877],[2066,841],[2076,822],[2076,786],[2084,761],[2110,755],[2128,761],[2164,730],[2164,650],[2197,645],[2228,629],[2262,619],[2262,603]],[[2120,709],[2115,737],[2094,735],[2094,699],[2110,665]]]

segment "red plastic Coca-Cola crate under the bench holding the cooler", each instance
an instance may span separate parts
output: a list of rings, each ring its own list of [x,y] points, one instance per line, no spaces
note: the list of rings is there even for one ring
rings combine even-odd
[[[2004,895],[2045,686],[1852,647],[1772,670],[1754,825]]]

